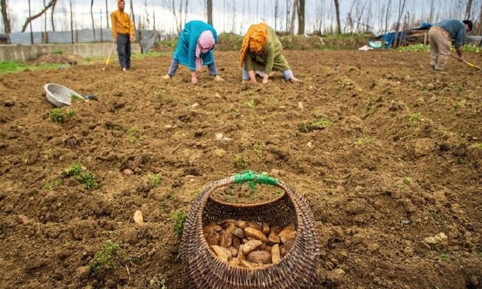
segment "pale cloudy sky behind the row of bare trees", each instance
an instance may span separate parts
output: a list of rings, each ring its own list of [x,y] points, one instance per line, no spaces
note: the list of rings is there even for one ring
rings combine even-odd
[[[43,8],[43,0],[30,0],[32,14],[36,14]],[[45,0],[46,2],[50,0]],[[74,12],[74,25],[78,30],[92,29],[92,19],[90,14],[91,0],[57,0],[55,8],[55,28],[59,30],[70,30],[70,1],[72,1],[72,10]],[[176,19],[174,14],[169,10],[168,5],[171,0],[132,0],[134,6],[134,16],[136,24],[139,23],[148,26],[148,29],[154,29],[154,18],[156,18],[156,30],[163,34],[176,33]],[[468,0],[406,0],[406,12],[410,14],[410,21],[414,19],[423,19],[428,21],[430,14],[430,3],[434,1],[433,21],[442,18],[457,17],[463,18],[465,6]],[[176,0],[179,3],[180,0]],[[278,3],[278,15],[275,21],[275,3]],[[293,0],[213,0],[213,25],[214,28],[221,32],[233,32],[243,34],[249,25],[264,21],[276,30],[286,30],[286,2],[293,3]],[[340,18],[342,20],[342,28],[346,26],[347,16],[350,9],[352,10],[353,20],[370,25],[373,32],[384,30],[385,19],[381,15],[386,12],[386,6],[391,2],[391,12],[389,17],[389,25],[397,20],[398,6],[401,0],[339,0],[340,2]],[[357,11],[361,11],[364,3],[364,16],[361,19],[355,17]],[[478,17],[481,13],[482,0],[473,0],[474,16]],[[128,8],[130,1],[126,0]],[[289,6],[291,10],[291,5]],[[21,26],[28,17],[28,0],[8,0],[10,11],[10,19],[12,22],[12,31],[19,32]],[[353,6],[353,8],[352,8]],[[110,12],[116,10],[116,0],[107,1],[107,10]],[[307,33],[313,30],[321,30],[327,32],[330,28],[335,28],[335,10],[332,0],[306,0],[306,25]],[[48,10],[47,30],[52,30],[50,22],[50,11]],[[102,11],[102,14],[101,14]],[[381,12],[383,11],[383,12]],[[94,0],[93,6],[94,23],[96,28],[107,28],[105,14],[105,0]],[[404,13],[404,16],[407,13]],[[130,14],[130,12],[129,12]],[[368,17],[370,16],[370,17]],[[190,0],[187,9],[187,16],[182,16],[184,20],[206,20],[205,1]],[[140,21],[139,21],[140,20]],[[359,21],[358,21],[359,20]],[[296,22],[296,21],[295,21]],[[32,21],[32,30],[34,32],[42,31],[44,28],[45,18],[40,17]],[[353,23],[356,28],[357,23]],[[415,24],[414,24],[415,25]],[[361,29],[362,25],[360,25]],[[345,28],[350,30],[349,26]],[[3,30],[3,27],[2,27]],[[297,28],[295,28],[295,32]],[[329,32],[329,31],[328,31]]]

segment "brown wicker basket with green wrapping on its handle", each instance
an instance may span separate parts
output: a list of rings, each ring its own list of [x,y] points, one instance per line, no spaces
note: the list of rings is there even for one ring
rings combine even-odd
[[[284,191],[280,197],[258,204],[231,204],[211,197],[229,184],[255,182]],[[266,222],[271,226],[295,224],[297,236],[289,253],[279,263],[260,268],[231,266],[209,248],[203,226],[224,219]],[[192,288],[314,288],[319,261],[313,214],[306,201],[284,182],[251,171],[212,182],[196,198],[182,233],[182,263]]]

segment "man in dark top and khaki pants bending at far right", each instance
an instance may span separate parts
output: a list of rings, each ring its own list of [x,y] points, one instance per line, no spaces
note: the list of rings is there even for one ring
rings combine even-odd
[[[465,32],[472,30],[473,23],[470,20],[459,21],[457,19],[446,19],[435,23],[428,30],[430,41],[430,67],[432,70],[441,71],[446,65],[450,56],[452,39],[455,41],[455,50],[459,54],[459,61],[463,62],[462,45]]]

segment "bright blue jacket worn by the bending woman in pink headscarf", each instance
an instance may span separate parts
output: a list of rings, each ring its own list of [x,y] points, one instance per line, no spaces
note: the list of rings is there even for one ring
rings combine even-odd
[[[191,72],[196,70],[196,44],[203,31],[211,30],[214,40],[218,43],[218,33],[213,26],[202,21],[189,21],[180,32],[178,46],[173,58],[180,64],[189,67]],[[214,62],[213,50],[201,53],[202,65],[210,65]]]

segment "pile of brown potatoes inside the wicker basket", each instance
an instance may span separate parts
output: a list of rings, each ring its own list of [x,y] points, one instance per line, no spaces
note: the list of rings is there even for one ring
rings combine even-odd
[[[203,228],[209,248],[232,266],[255,268],[276,264],[295,242],[295,225],[270,227],[262,222],[222,220]]]

